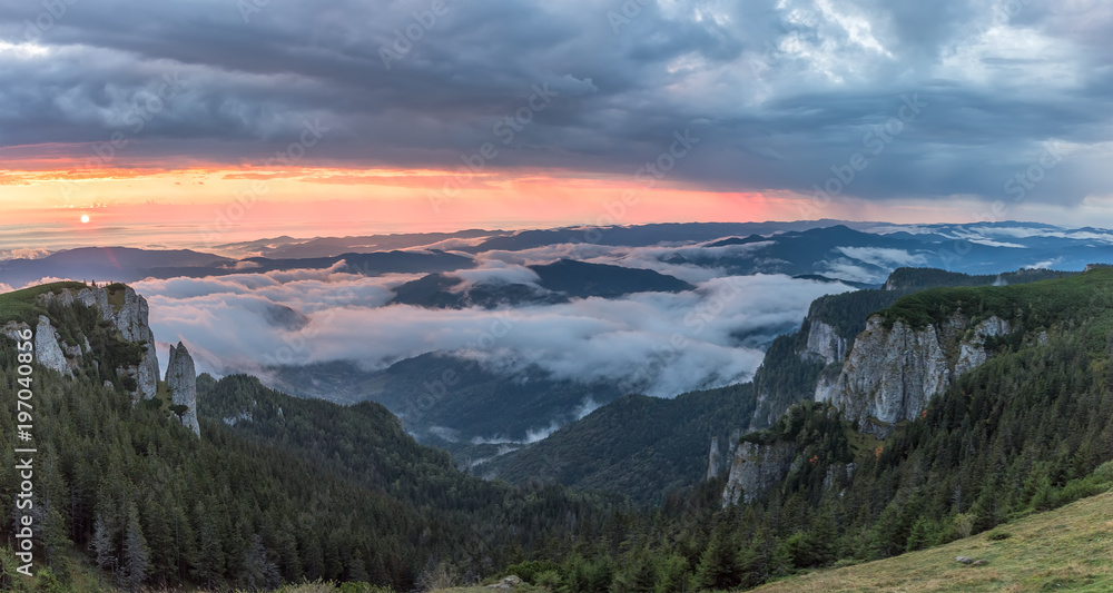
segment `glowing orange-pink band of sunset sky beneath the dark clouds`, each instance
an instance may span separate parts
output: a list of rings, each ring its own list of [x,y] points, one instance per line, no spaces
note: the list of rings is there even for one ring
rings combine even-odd
[[[0,174],[0,205],[9,225],[68,228],[75,239],[95,244],[111,243],[111,229],[120,225],[150,226],[150,235],[138,233],[130,243],[159,244],[165,225],[247,240],[669,221],[840,218],[915,224],[993,215],[958,199],[875,204],[846,197],[824,204],[787,190],[712,191],[668,180],[650,184],[632,175],[588,175],[211,166],[7,170]],[[1048,213],[1052,216],[1070,217],[1065,209],[1051,210],[1063,210]],[[168,237],[162,241],[190,243]]]

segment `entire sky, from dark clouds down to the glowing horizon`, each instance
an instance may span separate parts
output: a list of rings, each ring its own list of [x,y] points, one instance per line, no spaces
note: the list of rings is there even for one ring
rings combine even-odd
[[[1110,30],[1100,0],[0,0],[0,225],[1113,226]]]

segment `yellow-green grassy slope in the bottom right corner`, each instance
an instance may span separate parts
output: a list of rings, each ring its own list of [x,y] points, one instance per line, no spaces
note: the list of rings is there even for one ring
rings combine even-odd
[[[992,533],[1011,537],[991,541]],[[989,561],[967,566],[955,556]],[[770,583],[764,593],[1113,591],[1113,492],[947,545]]]

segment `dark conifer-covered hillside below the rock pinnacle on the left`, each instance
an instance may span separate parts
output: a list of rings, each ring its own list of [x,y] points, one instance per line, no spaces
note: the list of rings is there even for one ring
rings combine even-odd
[[[36,300],[78,286],[0,297],[9,315],[0,326],[46,314],[65,328],[61,339],[91,342],[75,377],[33,374],[37,567],[51,566],[63,585],[77,552],[129,590],[325,579],[406,591],[445,566],[471,580],[523,554],[559,556],[561,542],[598,533],[613,508],[559,486],[470,477],[377,404],[295,399],[245,376],[203,378],[197,438],[170,409],[165,385],[137,401],[117,377],[116,365],[140,345],[81,303]],[[18,364],[16,343],[0,337],[3,385],[16,385]],[[21,487],[16,413],[0,406],[4,546],[14,543]],[[0,572],[0,590],[24,585],[11,566]]]

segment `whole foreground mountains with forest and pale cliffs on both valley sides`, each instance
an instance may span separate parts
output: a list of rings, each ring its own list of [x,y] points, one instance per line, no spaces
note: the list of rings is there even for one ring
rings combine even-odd
[[[1113,485],[1113,268],[899,268],[880,288],[815,299],[750,382],[676,398],[601,392],[610,403],[580,401],[548,438],[469,441],[476,448],[455,458],[388,409],[417,402],[421,372],[466,387],[446,382],[441,399],[410,408],[445,424],[479,422],[515,392],[506,418],[559,414],[582,383],[533,370],[533,386],[551,385],[531,393],[426,354],[363,386],[386,407],[338,405],[246,375],[195,376],[180,344],[164,380],[147,320],[157,305],[81,283],[0,295],[0,372],[18,372],[16,342],[33,328],[36,542],[69,582],[102,571],[122,589],[328,579],[408,590],[519,573],[569,593],[750,587],[993,540]],[[12,414],[0,409],[0,425]],[[3,451],[12,434],[0,433]],[[11,465],[4,496],[20,487]],[[3,554],[0,585],[23,590]],[[57,560],[68,555],[87,569]]]

